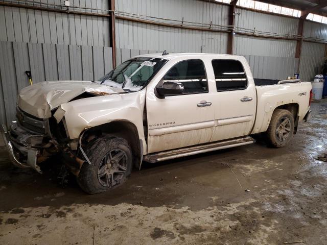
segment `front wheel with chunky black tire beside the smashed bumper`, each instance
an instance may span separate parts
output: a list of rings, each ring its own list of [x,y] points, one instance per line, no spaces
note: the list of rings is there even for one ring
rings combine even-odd
[[[91,164],[83,164],[77,182],[85,192],[96,194],[113,189],[130,175],[133,155],[125,139],[102,136],[84,150]]]

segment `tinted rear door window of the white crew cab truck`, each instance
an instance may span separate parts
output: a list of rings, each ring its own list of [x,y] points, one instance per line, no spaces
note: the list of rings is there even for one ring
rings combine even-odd
[[[217,91],[245,89],[246,75],[243,66],[238,60],[212,61]]]

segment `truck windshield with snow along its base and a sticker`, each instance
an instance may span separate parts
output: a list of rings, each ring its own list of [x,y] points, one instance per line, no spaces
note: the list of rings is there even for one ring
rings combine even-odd
[[[127,92],[139,91],[148,85],[166,61],[148,57],[134,58],[118,65],[97,83],[122,88]]]

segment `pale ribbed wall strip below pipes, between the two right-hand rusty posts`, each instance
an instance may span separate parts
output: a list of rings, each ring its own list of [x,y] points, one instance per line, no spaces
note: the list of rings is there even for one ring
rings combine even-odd
[[[296,41],[236,35],[233,52],[237,55],[295,57]]]

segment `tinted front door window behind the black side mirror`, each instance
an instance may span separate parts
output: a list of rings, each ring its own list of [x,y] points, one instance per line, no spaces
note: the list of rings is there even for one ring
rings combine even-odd
[[[177,63],[165,75],[164,82],[166,81],[182,83],[185,94],[208,91],[202,60],[185,60]]]

